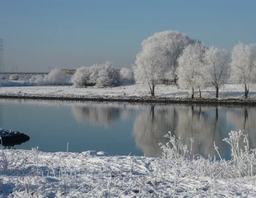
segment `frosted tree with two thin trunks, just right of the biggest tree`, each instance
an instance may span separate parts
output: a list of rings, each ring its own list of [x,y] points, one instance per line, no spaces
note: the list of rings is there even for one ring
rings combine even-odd
[[[204,45],[196,43],[188,45],[178,58],[178,85],[181,88],[190,88],[192,99],[195,88],[199,88],[201,97],[200,88],[204,84],[203,55]]]

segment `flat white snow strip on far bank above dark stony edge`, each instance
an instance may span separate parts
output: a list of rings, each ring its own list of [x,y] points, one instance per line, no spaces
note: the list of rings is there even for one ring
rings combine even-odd
[[[220,100],[243,100],[244,90],[242,84],[225,84],[220,89]],[[188,90],[182,90],[173,85],[159,84],[155,90],[156,100],[190,100]],[[0,96],[17,96],[21,98],[67,98],[67,99],[107,99],[122,100],[135,98],[150,98],[149,88],[145,85],[134,84],[117,86],[113,88],[75,88],[73,86],[4,86],[0,88]],[[196,98],[199,93],[196,92]],[[214,88],[202,90],[203,100],[215,98]],[[256,101],[256,86],[251,86],[247,101]]]

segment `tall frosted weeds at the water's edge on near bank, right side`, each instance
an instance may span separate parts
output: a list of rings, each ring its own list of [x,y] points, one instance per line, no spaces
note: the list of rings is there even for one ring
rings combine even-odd
[[[161,145],[162,158],[168,162],[174,171],[174,177],[192,174],[198,177],[207,176],[210,178],[243,178],[245,176],[255,176],[256,174],[256,149],[249,149],[249,141],[247,135],[243,131],[231,131],[229,137],[223,141],[231,146],[231,160],[222,158],[218,147],[214,143],[214,148],[218,153],[216,156],[208,156],[204,158],[200,154],[191,155],[192,143],[188,147],[182,145],[180,138],[166,135],[169,142]],[[165,164],[164,164],[165,163]],[[162,162],[162,167],[166,166],[166,162]],[[164,172],[164,171],[162,171]]]

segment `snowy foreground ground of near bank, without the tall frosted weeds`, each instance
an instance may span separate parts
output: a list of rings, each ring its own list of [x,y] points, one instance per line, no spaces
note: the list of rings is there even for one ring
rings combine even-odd
[[[164,162],[158,158],[108,156],[93,151],[4,152],[16,163],[1,170],[0,197],[256,196],[254,177],[218,179],[188,173],[176,177],[170,164],[162,170]]]

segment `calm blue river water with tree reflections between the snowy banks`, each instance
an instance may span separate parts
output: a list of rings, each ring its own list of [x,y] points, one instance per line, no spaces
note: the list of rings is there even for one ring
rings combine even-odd
[[[61,102],[0,100],[0,127],[20,131],[31,140],[17,149],[56,152],[103,150],[111,154],[160,156],[159,143],[168,131],[190,145],[194,154],[225,158],[229,146],[222,141],[231,130],[245,129],[251,148],[256,147],[256,108],[241,106],[188,106],[112,102]]]

